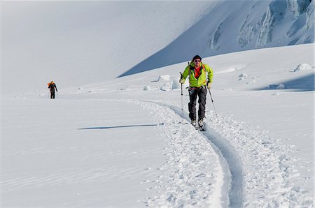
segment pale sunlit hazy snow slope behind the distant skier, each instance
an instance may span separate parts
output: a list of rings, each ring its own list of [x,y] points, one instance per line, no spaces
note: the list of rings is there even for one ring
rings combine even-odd
[[[51,80],[71,87],[113,79],[172,43],[209,6],[207,1],[1,1],[1,89],[19,94],[41,91]],[[27,87],[20,87],[24,82]]]

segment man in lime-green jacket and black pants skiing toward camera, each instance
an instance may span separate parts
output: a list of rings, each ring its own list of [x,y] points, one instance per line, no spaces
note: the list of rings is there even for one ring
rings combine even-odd
[[[195,57],[193,57],[193,60],[190,62],[190,64],[188,63],[188,66],[185,68],[183,75],[179,80],[179,83],[184,84],[188,75],[190,85],[188,89],[190,98],[190,102],[188,103],[188,110],[191,124],[193,124],[193,126],[196,126],[196,101],[198,96],[198,125],[200,128],[204,128],[203,119],[206,110],[207,88],[211,88],[213,70],[207,64],[203,64],[202,58],[196,55]]]

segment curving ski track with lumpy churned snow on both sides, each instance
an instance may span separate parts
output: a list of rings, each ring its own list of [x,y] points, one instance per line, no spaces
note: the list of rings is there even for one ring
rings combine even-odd
[[[146,199],[146,205],[313,207],[313,198],[303,198],[304,190],[290,182],[290,179],[298,177],[292,165],[292,161],[297,160],[297,158],[288,156],[292,150],[281,140],[270,138],[267,132],[253,131],[250,127],[234,121],[230,117],[220,117],[219,115],[216,119],[214,112],[209,110],[207,110],[204,119],[207,131],[197,133],[190,124],[181,124],[181,120],[189,121],[189,119],[187,112],[184,112],[183,118],[181,118],[179,104],[167,101],[130,102],[138,103],[144,108],[150,108],[153,116],[160,117],[166,123],[165,126],[169,128],[168,131],[170,132],[167,135],[169,140],[167,140],[165,149],[167,151],[171,149],[170,152],[166,153],[167,163],[173,163],[167,166],[181,167],[175,168],[176,174],[160,176],[162,181],[163,179],[164,181],[171,180],[171,182],[167,182],[167,187],[162,187],[162,190],[167,191],[155,198]],[[165,117],[169,119],[165,121]],[[212,147],[204,143],[207,141],[212,144]],[[187,158],[187,155],[183,155],[183,150],[187,145],[190,149],[185,149],[184,154],[191,154],[189,151],[195,148],[193,150],[195,154],[202,154],[202,156],[190,159],[205,160],[209,165],[209,167],[207,165],[199,166],[198,171],[208,171],[201,186],[198,184],[199,181],[189,180],[196,171],[188,166],[192,161]],[[198,153],[198,151],[200,152]],[[214,151],[216,156],[214,156]],[[208,154],[212,157],[204,157]],[[213,157],[216,158],[215,164]],[[225,167],[224,161],[228,163],[228,167]],[[207,170],[207,168],[214,171]],[[192,170],[193,172],[190,172]],[[184,176],[187,172],[190,172],[190,175]],[[207,177],[207,174],[210,174],[211,177]],[[186,181],[183,183],[181,179],[185,178]],[[155,182],[159,186],[160,181]],[[227,183],[230,186],[229,191],[226,187]],[[207,188],[204,186],[206,184],[209,185]],[[188,187],[184,188],[183,186]],[[214,193],[218,193],[218,188],[221,199],[216,201],[218,195]],[[188,198],[186,191],[191,189],[193,191],[190,191],[190,198]],[[196,194],[197,191],[201,192]],[[224,195],[225,191],[228,191],[226,192],[228,196]],[[195,198],[191,195],[192,192],[195,194]],[[209,193],[209,195],[204,194],[203,197],[200,197],[202,193]]]

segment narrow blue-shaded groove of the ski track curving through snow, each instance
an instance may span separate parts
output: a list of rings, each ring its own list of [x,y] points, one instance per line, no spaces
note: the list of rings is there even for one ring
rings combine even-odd
[[[179,115],[179,117],[183,116],[183,119],[190,122],[188,114],[182,114],[180,107],[156,101],[150,102],[168,107],[170,110],[173,110],[177,115]],[[210,142],[217,154],[222,157],[221,165],[225,166],[225,163],[228,165],[228,167],[225,168],[225,175],[230,176],[225,176],[225,180],[230,180],[225,181],[225,183],[230,184],[230,188],[228,190],[228,205],[229,207],[242,207],[244,197],[241,158],[237,154],[237,151],[235,151],[234,147],[232,147],[232,145],[227,140],[215,133],[207,123],[204,123],[204,125],[206,125],[207,131],[199,131],[199,133]]]

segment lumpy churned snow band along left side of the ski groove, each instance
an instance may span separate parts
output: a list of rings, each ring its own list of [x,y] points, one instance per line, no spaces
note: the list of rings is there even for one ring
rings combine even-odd
[[[151,110],[152,116],[165,123],[162,136],[167,163],[161,168],[167,172],[155,180],[162,192],[147,198],[146,205],[227,207],[230,175],[220,151],[193,126],[182,124],[179,114],[169,107],[151,101],[130,102]]]

